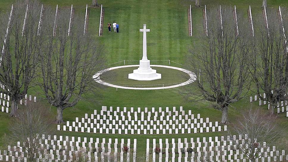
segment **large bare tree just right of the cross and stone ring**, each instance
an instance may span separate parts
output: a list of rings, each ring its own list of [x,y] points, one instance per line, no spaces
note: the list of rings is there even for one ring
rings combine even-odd
[[[247,29],[239,21],[239,36],[235,34],[232,8],[222,7],[221,14],[219,9],[212,10],[207,21],[208,36],[201,35],[201,45],[191,49],[187,59],[187,68],[198,78],[184,94],[190,101],[215,103],[213,107],[222,111],[221,123],[225,124],[228,106],[242,99],[243,89],[249,86],[251,46],[247,43]]]

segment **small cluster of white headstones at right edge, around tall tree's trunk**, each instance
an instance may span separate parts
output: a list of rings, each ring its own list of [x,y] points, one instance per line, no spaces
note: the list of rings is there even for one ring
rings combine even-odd
[[[273,93],[273,91],[272,91],[272,93]],[[266,99],[266,94],[265,93],[263,94],[263,98]],[[257,95],[254,96],[254,100],[253,100],[253,97],[250,96],[249,102],[254,102],[254,101],[257,101],[257,100],[259,100],[259,106],[261,106],[262,104],[263,105],[267,105],[267,101],[264,100],[262,102],[260,97],[258,99]],[[281,108],[280,108],[280,106],[281,106]],[[268,110],[269,109],[270,109],[270,102],[268,102]],[[287,102],[287,100],[281,101],[280,103],[277,104],[277,113],[280,113],[280,112],[282,112],[282,113],[286,112],[286,117],[288,117],[288,102]]]

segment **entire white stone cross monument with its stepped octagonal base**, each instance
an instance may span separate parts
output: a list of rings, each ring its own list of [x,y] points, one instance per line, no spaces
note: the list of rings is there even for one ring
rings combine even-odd
[[[128,79],[133,80],[157,80],[161,79],[161,74],[156,73],[155,69],[150,67],[150,60],[147,59],[147,49],[146,49],[146,32],[150,32],[150,29],[146,29],[146,24],[143,24],[143,57],[139,61],[139,68],[133,70],[133,73],[128,74]]]

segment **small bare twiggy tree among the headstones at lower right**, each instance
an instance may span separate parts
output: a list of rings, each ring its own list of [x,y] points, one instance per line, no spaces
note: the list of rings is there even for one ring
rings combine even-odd
[[[243,141],[234,140],[233,144],[243,152],[246,157],[255,162],[261,155],[261,148],[272,147],[275,141],[281,137],[281,131],[276,128],[275,117],[269,117],[261,113],[260,109],[242,111],[242,116],[228,132],[241,135]]]

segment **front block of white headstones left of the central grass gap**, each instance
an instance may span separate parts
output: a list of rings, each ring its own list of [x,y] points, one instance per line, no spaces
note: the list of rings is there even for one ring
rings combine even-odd
[[[40,148],[35,153],[36,161],[76,161],[80,156],[85,161],[99,162],[136,162],[137,139],[99,139],[57,135],[42,135]],[[26,162],[28,149],[25,144],[17,142],[17,146],[8,146],[0,150],[0,161]],[[83,158],[82,157],[82,158]]]

